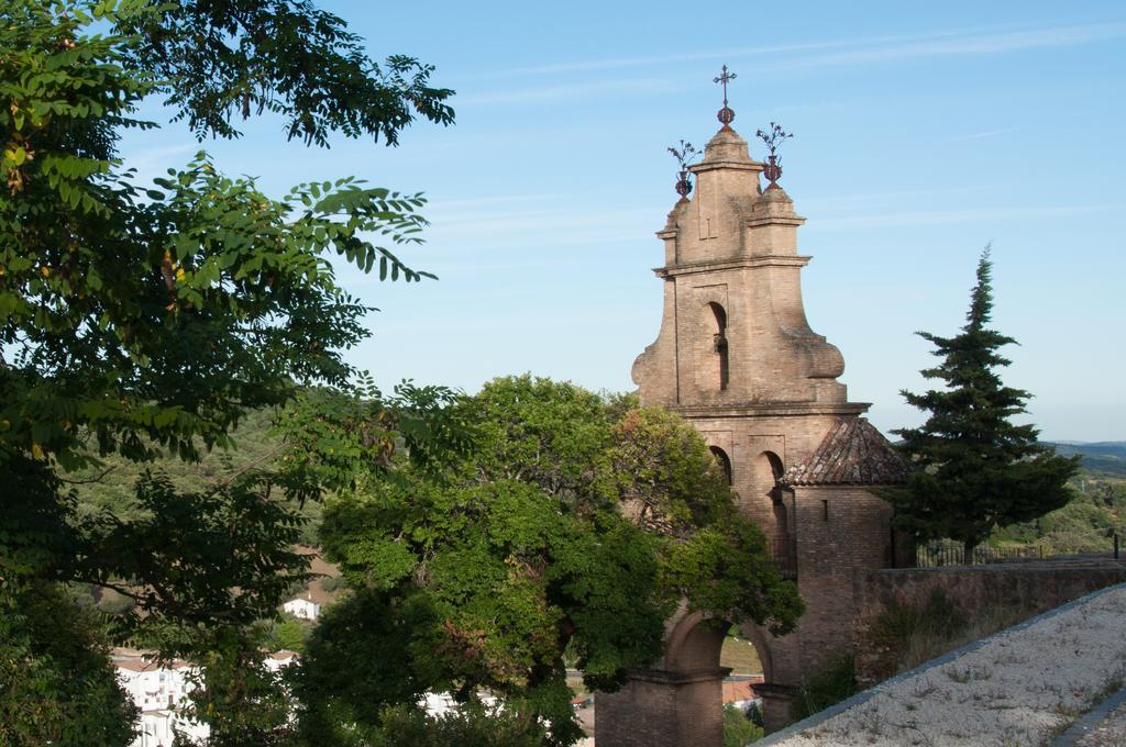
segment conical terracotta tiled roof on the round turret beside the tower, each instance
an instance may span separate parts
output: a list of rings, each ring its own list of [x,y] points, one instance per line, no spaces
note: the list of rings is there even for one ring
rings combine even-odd
[[[883,433],[863,417],[842,417],[808,459],[779,483],[799,485],[902,485],[911,467]]]

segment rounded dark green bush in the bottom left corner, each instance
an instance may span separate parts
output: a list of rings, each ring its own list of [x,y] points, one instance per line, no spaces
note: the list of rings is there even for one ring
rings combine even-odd
[[[120,747],[140,713],[101,627],[56,585],[0,579],[0,744]]]

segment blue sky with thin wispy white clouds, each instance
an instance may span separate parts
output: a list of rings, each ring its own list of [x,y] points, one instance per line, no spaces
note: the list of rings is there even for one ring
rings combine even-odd
[[[781,182],[808,218],[806,312],[878,428],[920,421],[899,396],[932,360],[912,333],[957,331],[992,242],[995,326],[1021,343],[1004,378],[1036,395],[1030,420],[1126,439],[1126,4],[323,4],[373,55],[437,65],[457,124],[318,150],[265,119],[203,146],[277,195],[347,174],[427,194],[427,243],[403,259],[437,282],[342,276],[381,308],[352,360],[382,385],[632,389],[660,324],[665,148],[714,134],[726,63],[734,128],[795,134]],[[180,125],[123,145],[152,176],[199,147]]]

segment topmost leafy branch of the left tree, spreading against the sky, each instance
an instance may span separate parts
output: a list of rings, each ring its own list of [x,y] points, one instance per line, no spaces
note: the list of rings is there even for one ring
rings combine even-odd
[[[168,104],[200,140],[235,137],[232,119],[263,111],[285,118],[288,138],[318,145],[332,130],[394,145],[415,112],[454,120],[454,92],[430,87],[431,65],[369,60],[342,19],[309,0],[184,0],[118,25],[138,35],[132,61],[161,78]]]

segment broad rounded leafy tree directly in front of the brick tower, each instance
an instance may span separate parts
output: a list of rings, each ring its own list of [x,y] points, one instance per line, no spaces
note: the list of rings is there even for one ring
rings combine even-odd
[[[497,379],[449,407],[473,446],[441,469],[404,466],[325,506],[322,540],[355,593],[295,672],[302,730],[350,745],[421,693],[499,696],[581,735],[566,666],[614,690],[655,660],[663,623],[692,610],[783,633],[802,604],[736,512],[689,425],[570,384]]]

